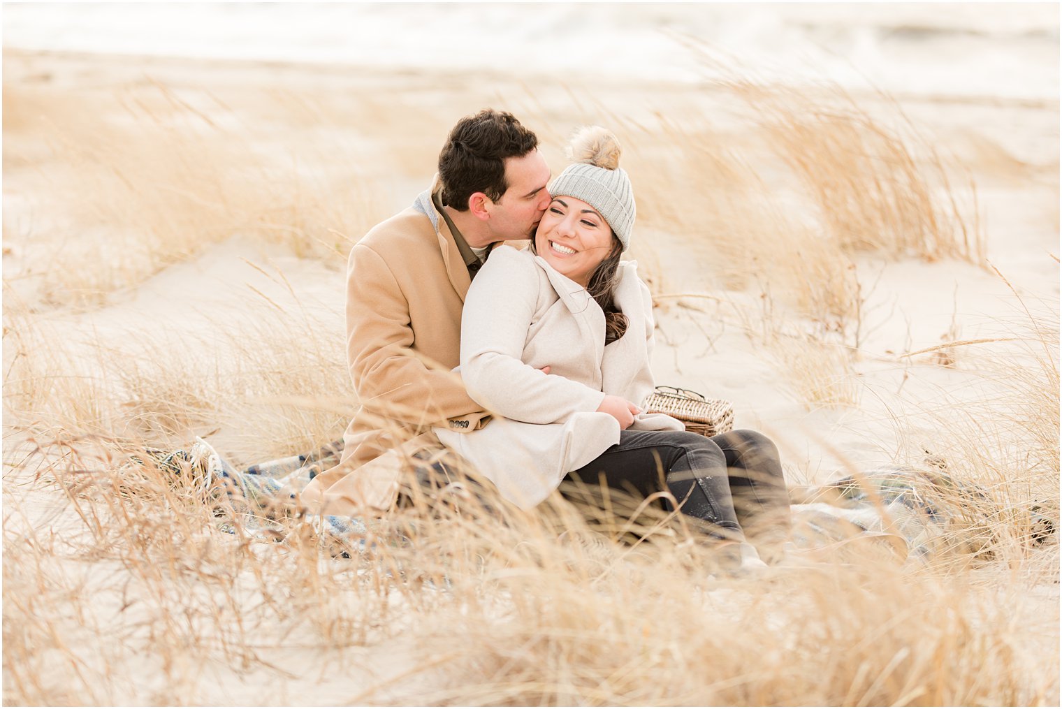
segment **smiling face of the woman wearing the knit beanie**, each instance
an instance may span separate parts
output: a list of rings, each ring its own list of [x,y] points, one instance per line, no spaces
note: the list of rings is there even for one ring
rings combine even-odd
[[[609,223],[582,200],[553,197],[534,237],[538,256],[583,288],[590,274],[612,252]]]

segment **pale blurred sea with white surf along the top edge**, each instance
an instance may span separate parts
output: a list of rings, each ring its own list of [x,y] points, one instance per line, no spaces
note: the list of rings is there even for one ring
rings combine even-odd
[[[5,3],[4,47],[692,81],[681,33],[760,75],[1058,99],[1056,3]]]

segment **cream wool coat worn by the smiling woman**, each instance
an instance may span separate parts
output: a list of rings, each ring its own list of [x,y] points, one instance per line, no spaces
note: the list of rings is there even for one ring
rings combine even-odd
[[[529,249],[496,248],[465,297],[461,377],[472,398],[496,415],[477,431],[435,432],[523,508],[619,443],[619,423],[597,412],[605,394],[640,405],[653,391],[652,299],[634,262],[621,262],[619,273],[615,301],[629,326],[607,346],[594,298]],[[547,365],[549,375],[541,371]],[[631,429],[683,425],[641,414]]]

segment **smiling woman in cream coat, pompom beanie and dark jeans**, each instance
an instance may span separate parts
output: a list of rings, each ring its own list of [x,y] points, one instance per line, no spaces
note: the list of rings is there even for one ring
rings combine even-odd
[[[612,133],[584,128],[570,150],[576,162],[549,186],[530,248],[496,248],[465,298],[461,376],[498,416],[439,437],[524,508],[565,480],[603,477],[646,497],[667,489],[737,542],[742,567],[763,567],[744,528],[767,520],[774,543],[788,531],[777,450],[752,431],[706,438],[641,412],[653,391],[652,299],[636,265],[620,261],[634,193]]]

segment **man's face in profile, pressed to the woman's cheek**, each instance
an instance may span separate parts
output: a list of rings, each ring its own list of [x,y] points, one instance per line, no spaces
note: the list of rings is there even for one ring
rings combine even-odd
[[[491,231],[496,241],[533,239],[549,205],[549,166],[537,150],[506,158],[509,189],[491,209]]]

